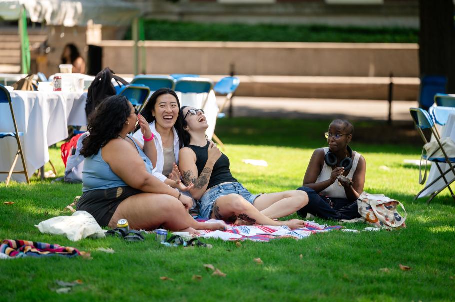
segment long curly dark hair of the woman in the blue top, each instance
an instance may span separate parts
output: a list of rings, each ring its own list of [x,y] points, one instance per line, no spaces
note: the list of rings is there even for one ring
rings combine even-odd
[[[111,139],[117,138],[131,114],[128,99],[113,95],[104,99],[88,118],[88,132],[82,141],[80,154],[88,157],[97,154]]]

